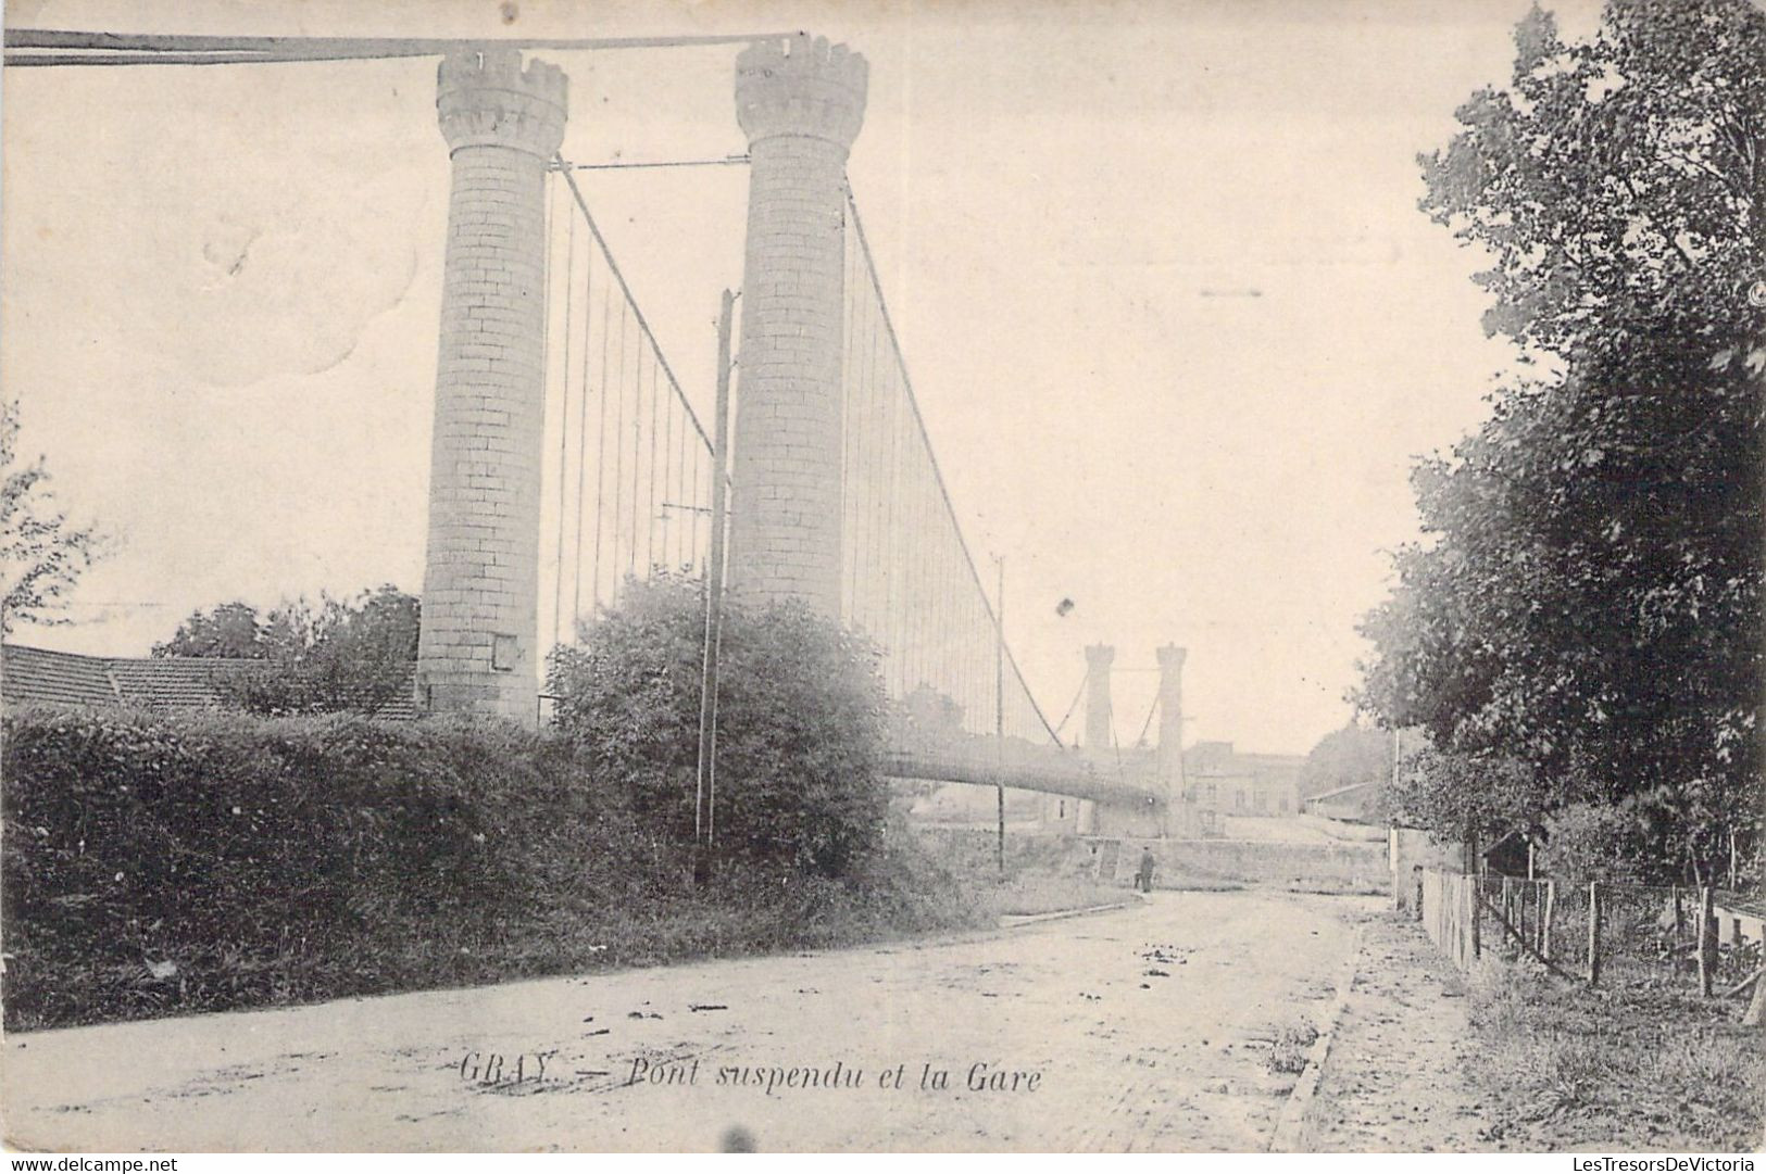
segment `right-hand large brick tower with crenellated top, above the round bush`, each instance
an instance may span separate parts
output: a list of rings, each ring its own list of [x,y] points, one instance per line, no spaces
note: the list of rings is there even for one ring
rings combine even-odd
[[[846,155],[865,78],[864,56],[809,35],[736,58],[749,237],[731,583],[751,600],[800,598],[828,616],[841,609]]]

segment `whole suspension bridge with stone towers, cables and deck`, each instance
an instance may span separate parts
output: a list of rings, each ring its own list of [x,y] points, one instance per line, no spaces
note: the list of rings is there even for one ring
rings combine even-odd
[[[689,44],[742,46],[747,155],[662,164],[749,171],[728,471],[715,422],[694,410],[577,182],[602,164],[560,154],[567,78],[523,58]],[[442,58],[452,191],[419,708],[539,720],[549,648],[577,639],[634,583],[708,579],[722,478],[728,588],[758,604],[800,600],[879,650],[895,704],[890,773],[1074,796],[1095,809],[1088,830],[1162,833],[1181,793],[1181,650],[1160,653],[1160,754],[1132,771],[1111,752],[1107,657],[1090,657],[1086,754],[1063,745],[1024,683],[957,523],[848,182],[864,56],[804,34],[484,44],[7,30],[5,60],[427,55]]]

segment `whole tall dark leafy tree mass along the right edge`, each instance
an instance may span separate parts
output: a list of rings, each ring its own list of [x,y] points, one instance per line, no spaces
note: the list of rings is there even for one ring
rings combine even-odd
[[[1413,471],[1430,540],[1358,699],[1429,731],[1418,786],[1471,793],[1423,809],[1612,807],[1584,826],[1708,870],[1762,809],[1766,14],[1612,0],[1586,44],[1538,9],[1515,42],[1422,207],[1491,252],[1529,374]]]

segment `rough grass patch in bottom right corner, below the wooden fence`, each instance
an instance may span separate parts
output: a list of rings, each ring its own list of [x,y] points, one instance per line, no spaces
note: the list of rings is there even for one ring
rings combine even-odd
[[[1660,985],[1589,990],[1508,967],[1473,987],[1480,1140],[1505,1149],[1761,1144],[1766,1047],[1743,1005]]]

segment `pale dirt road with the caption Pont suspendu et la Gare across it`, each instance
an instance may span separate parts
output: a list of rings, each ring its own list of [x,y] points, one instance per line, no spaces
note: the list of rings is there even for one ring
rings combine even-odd
[[[14,1035],[5,1135],[115,1149],[1263,1149],[1372,899]],[[795,1070],[795,1072],[793,1072]],[[634,1079],[636,1077],[636,1079]]]

